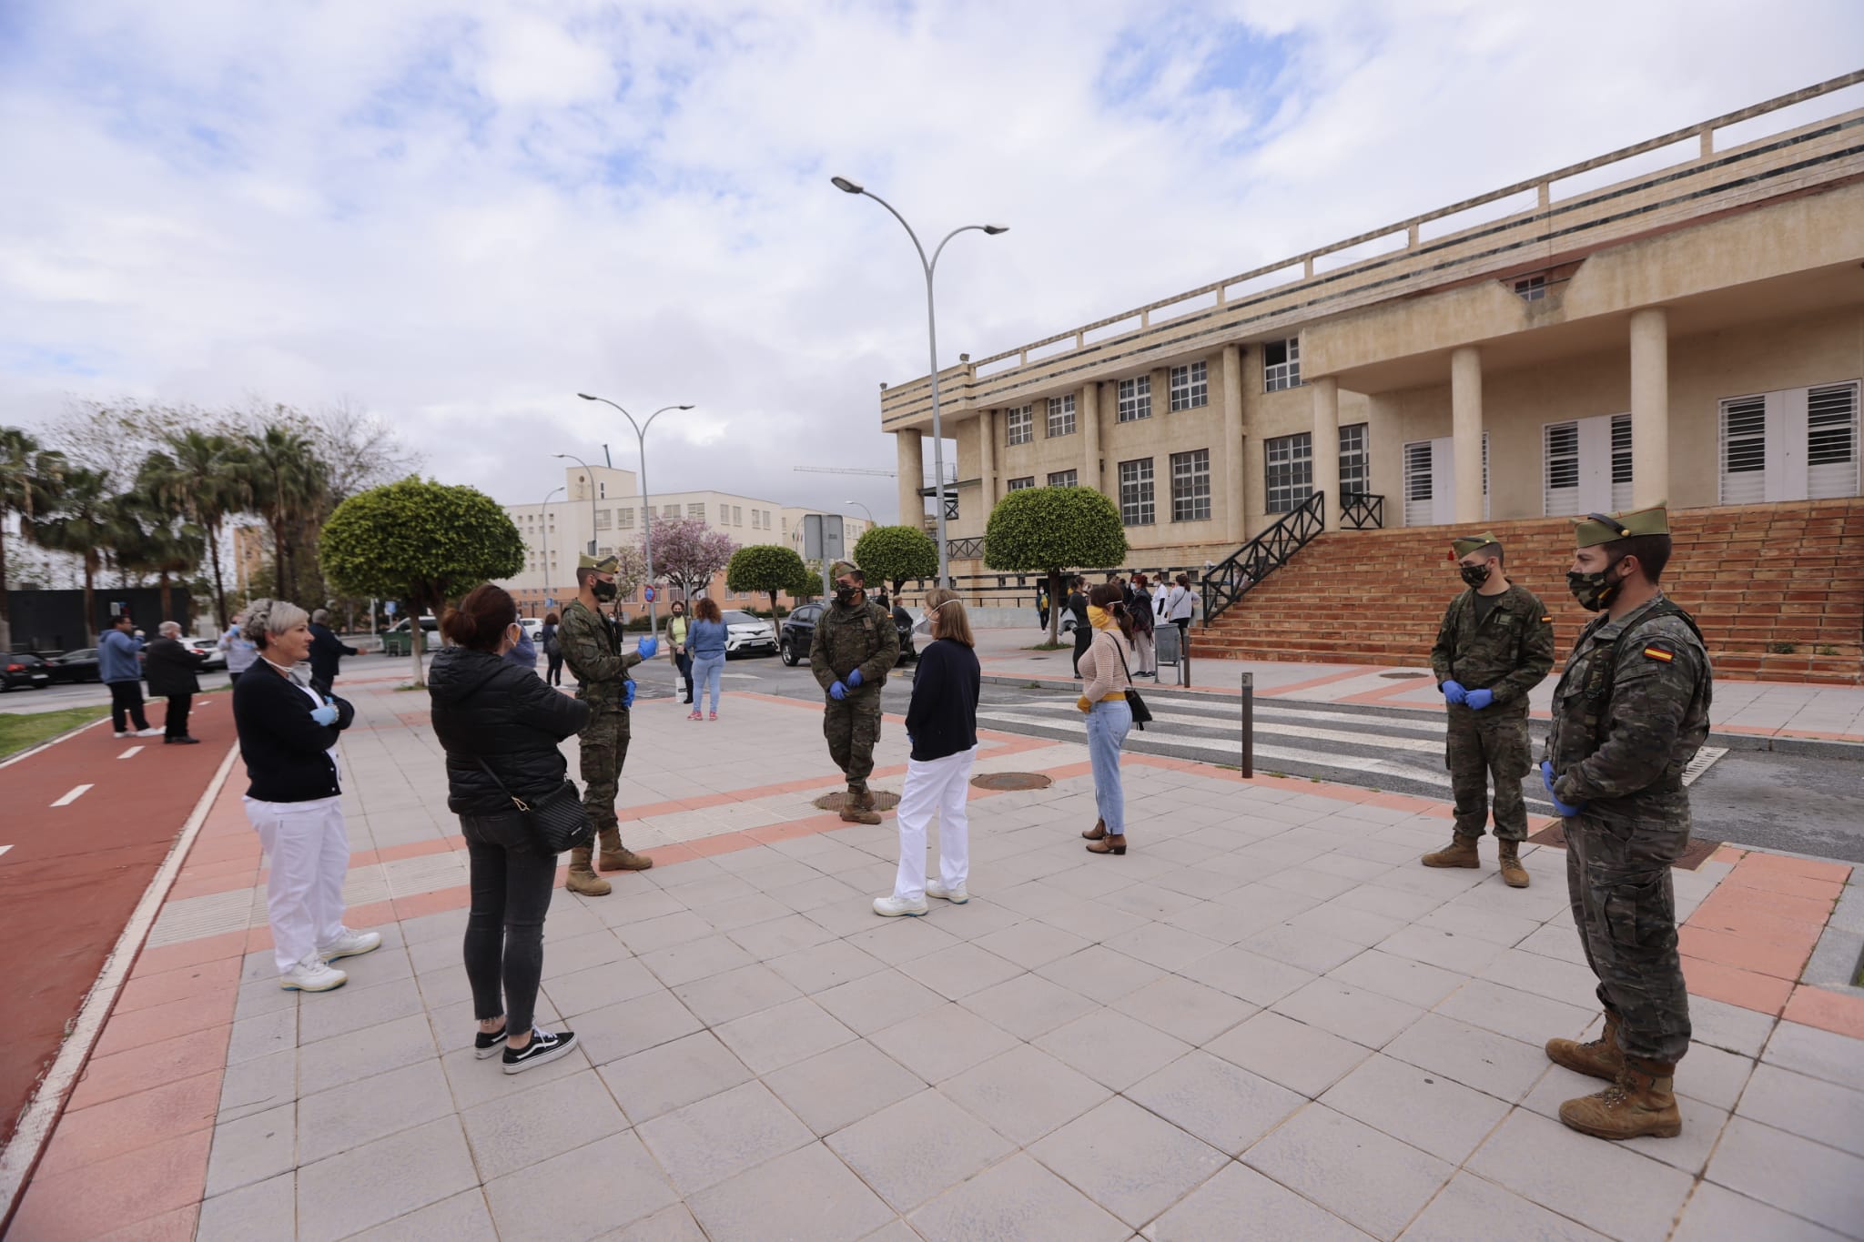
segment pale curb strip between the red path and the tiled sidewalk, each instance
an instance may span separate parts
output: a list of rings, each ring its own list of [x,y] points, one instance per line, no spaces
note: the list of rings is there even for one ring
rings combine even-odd
[[[82,728],[91,726],[86,724]],[[97,972],[97,981],[91,983],[91,991],[84,996],[84,1007],[78,1009],[71,1032],[58,1046],[58,1058],[45,1071],[45,1076],[32,1093],[32,1100],[28,1100],[26,1110],[21,1114],[19,1128],[13,1130],[13,1138],[0,1151],[0,1235],[6,1233],[13,1212],[19,1208],[19,1201],[32,1181],[32,1171],[39,1164],[45,1143],[52,1138],[52,1130],[65,1110],[65,1099],[89,1061],[91,1048],[97,1046],[97,1037],[103,1033],[104,1019],[110,1017],[117,992],[123,991],[129,970],[136,965],[142,946],[149,938],[149,929],[155,927],[155,916],[160,912],[162,901],[168,899],[168,890],[173,888],[175,877],[181,873],[181,864],[194,847],[194,838],[199,836],[201,825],[207,821],[207,812],[212,808],[214,799],[220,797],[220,790],[226,786],[237,758],[239,745],[235,743],[227,747],[218,771],[214,771],[212,780],[207,782],[201,797],[194,803],[194,810],[188,812],[181,832],[175,834],[175,844],[168,847],[168,857],[162,858],[162,866],[157,868],[149,886],[142,890],[142,899],[136,901],[134,912],[130,912],[129,922],[123,925],[123,935],[117,937],[116,948],[110,950],[103,970]]]

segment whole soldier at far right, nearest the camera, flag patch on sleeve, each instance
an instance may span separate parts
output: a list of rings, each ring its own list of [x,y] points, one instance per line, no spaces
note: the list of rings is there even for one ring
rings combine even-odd
[[[1588,609],[1553,700],[1542,780],[1566,817],[1566,884],[1605,1032],[1547,1041],[1547,1058],[1610,1087],[1560,1121],[1599,1138],[1681,1132],[1672,1082],[1689,1050],[1670,864],[1689,844],[1683,769],[1709,734],[1702,633],[1657,579],[1670,559],[1661,505],[1579,520],[1566,575]]]

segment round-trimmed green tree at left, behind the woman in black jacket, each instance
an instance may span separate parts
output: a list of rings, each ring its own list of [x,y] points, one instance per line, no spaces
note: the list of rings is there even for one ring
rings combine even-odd
[[[423,685],[421,616],[524,570],[524,536],[485,492],[403,479],[337,505],[319,538],[324,579],[347,596],[408,601],[414,685]]]

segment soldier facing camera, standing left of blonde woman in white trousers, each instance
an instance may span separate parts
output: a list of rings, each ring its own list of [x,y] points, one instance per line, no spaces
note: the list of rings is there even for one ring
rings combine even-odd
[[[841,817],[880,823],[867,776],[880,741],[880,687],[900,659],[893,616],[867,598],[867,577],[846,560],[835,562],[835,603],[822,611],[809,644],[809,670],[828,695],[822,734],[835,765],[848,776]]]

